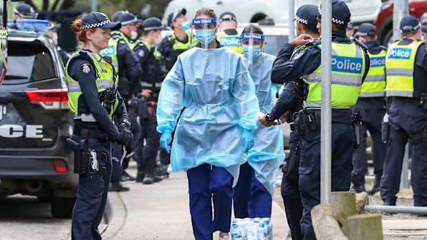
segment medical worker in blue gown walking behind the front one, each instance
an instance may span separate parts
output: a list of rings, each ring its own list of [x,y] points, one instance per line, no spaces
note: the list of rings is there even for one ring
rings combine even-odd
[[[248,25],[240,35],[243,62],[249,69],[263,114],[272,109],[280,85],[271,83],[275,57],[262,52],[264,35],[258,26]],[[275,181],[284,160],[283,133],[280,126],[267,128],[258,122],[253,131],[254,145],[240,166],[238,184],[234,187],[233,207],[236,218],[271,217]]]

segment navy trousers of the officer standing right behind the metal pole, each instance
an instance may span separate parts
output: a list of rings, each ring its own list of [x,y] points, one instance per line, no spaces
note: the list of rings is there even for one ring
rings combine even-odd
[[[355,135],[351,124],[332,122],[332,191],[348,191]],[[301,138],[300,192],[304,240],[316,239],[311,225],[311,209],[320,204],[320,129],[313,132],[313,140]]]

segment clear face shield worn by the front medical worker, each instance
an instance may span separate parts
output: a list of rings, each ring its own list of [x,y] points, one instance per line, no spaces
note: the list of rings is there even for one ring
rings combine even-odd
[[[196,31],[197,41],[207,49],[209,43],[215,41],[216,19],[193,19],[192,30]]]

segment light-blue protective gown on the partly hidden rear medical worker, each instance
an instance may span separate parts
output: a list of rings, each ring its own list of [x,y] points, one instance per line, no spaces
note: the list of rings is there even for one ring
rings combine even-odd
[[[264,114],[273,108],[275,93],[280,88],[280,85],[271,83],[270,80],[274,60],[274,56],[261,53],[249,65],[248,58],[243,58],[255,84],[260,111]],[[284,161],[282,128],[264,127],[259,121],[257,125],[258,128],[253,131],[253,148],[247,153],[247,162],[255,171],[256,178],[273,195],[279,166]]]

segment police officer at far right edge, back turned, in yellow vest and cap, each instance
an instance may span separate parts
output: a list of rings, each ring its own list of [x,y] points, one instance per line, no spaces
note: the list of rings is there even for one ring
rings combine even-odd
[[[386,56],[386,96],[391,98],[388,109],[391,131],[380,192],[384,205],[396,205],[402,160],[409,139],[414,206],[427,206],[427,47],[421,41],[421,24],[417,17],[404,17],[400,21],[400,31],[402,41],[390,45]]]

